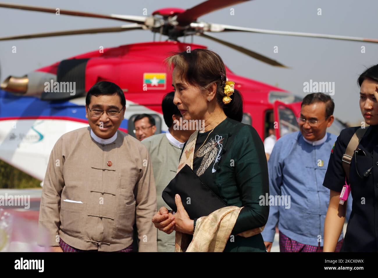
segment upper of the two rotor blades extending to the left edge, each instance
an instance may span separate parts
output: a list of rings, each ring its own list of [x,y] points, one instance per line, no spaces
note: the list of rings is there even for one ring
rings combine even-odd
[[[19,4],[9,4],[9,3],[1,3],[0,8],[10,8],[10,9],[21,9],[26,11],[37,11],[37,12],[49,12],[57,14],[58,9],[56,8],[45,8],[45,7],[37,7],[37,6],[28,6],[28,5],[19,5]],[[121,14],[95,14],[91,12],[79,12],[79,11],[69,11],[64,9],[59,9],[59,14],[65,14],[69,16],[84,16],[84,17],[95,17],[95,18],[103,18],[103,19],[115,19],[115,20],[122,20],[126,22],[132,23],[139,23],[145,24],[146,20],[149,17],[145,16],[126,16]]]

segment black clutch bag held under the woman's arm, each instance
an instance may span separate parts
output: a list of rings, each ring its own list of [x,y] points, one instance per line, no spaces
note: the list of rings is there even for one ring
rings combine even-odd
[[[190,219],[207,216],[215,210],[228,206],[202,182],[187,164],[176,174],[161,194],[164,202],[173,211],[177,211],[176,194],[180,195],[181,202]]]

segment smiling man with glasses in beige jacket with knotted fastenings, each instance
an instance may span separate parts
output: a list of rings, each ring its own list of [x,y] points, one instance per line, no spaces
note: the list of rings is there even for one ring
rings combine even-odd
[[[43,182],[39,226],[53,251],[130,252],[136,222],[139,252],[156,252],[156,189],[143,144],[118,130],[125,96],[112,82],[87,93],[90,127],[62,135]],[[39,243],[46,239],[39,239]]]

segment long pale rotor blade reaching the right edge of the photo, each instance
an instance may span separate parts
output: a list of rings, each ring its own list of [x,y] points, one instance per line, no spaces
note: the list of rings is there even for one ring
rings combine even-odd
[[[350,36],[315,34],[315,33],[265,30],[265,29],[245,28],[245,27],[231,26],[231,25],[224,25],[224,24],[212,24],[212,23],[210,24],[210,28],[207,31],[210,31],[210,32],[240,31],[240,32],[260,33],[260,34],[273,34],[273,35],[298,36],[298,37],[314,37],[314,38],[324,38],[324,39],[351,40],[351,41],[378,43],[378,39],[368,39],[368,38],[363,38],[363,37],[350,37]]]

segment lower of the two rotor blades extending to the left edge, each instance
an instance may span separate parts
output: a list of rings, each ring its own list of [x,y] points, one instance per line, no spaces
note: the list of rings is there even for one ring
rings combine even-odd
[[[58,32],[50,32],[50,33],[20,35],[20,36],[12,36],[12,37],[0,37],[0,40],[34,39],[34,38],[42,38],[42,37],[56,37],[56,36],[68,36],[68,35],[79,35],[79,34],[95,34],[95,33],[110,33],[110,32],[122,32],[122,31],[141,30],[141,29],[143,29],[143,25],[129,24],[129,25],[122,25],[122,26],[119,26],[119,27],[92,28],[92,29],[81,29],[81,30],[70,30],[70,31],[58,31]]]

